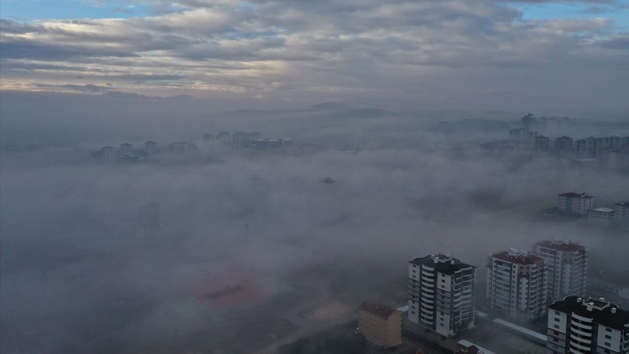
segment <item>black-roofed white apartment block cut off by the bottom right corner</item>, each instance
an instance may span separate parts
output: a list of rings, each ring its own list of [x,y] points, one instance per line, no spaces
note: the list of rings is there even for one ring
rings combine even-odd
[[[567,296],[548,306],[547,354],[629,353],[629,311],[604,298]]]

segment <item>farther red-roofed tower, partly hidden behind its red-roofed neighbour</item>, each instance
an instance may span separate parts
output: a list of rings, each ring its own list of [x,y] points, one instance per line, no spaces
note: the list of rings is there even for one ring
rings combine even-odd
[[[587,248],[567,239],[539,241],[533,253],[546,260],[547,303],[567,295],[584,295],[587,286]]]

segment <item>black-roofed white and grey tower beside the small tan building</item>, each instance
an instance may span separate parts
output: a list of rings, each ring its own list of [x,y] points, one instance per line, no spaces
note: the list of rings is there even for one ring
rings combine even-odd
[[[409,321],[446,337],[474,327],[475,266],[450,254],[408,263]]]

